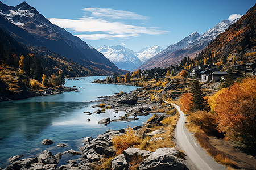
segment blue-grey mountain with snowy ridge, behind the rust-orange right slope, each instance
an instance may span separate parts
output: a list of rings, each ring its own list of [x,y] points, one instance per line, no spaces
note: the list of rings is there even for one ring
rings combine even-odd
[[[183,57],[194,58],[197,53],[204,50],[213,39],[224,32],[231,24],[233,24],[233,22],[223,20],[201,36],[195,31],[176,44],[168,46],[163,52],[148,59],[148,61],[139,66],[138,69],[144,70],[154,67],[168,67],[179,63]]]

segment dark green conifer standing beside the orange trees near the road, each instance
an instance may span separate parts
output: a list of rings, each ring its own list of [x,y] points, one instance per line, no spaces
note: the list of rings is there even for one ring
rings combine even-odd
[[[204,99],[205,95],[201,91],[201,85],[198,80],[193,80],[191,84],[191,93],[192,93],[192,111],[205,110],[208,109],[207,100]]]

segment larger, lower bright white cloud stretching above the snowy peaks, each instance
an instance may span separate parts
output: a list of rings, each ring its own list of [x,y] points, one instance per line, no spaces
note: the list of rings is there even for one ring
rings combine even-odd
[[[76,35],[83,39],[114,39],[125,37],[137,37],[142,34],[163,35],[167,31],[159,30],[155,27],[142,27],[120,22],[109,22],[103,19],[80,18],[80,19],[60,19],[49,18],[49,20],[62,28],[68,28],[75,32],[85,32]],[[90,34],[92,32],[92,34]],[[102,33],[93,33],[102,32]]]

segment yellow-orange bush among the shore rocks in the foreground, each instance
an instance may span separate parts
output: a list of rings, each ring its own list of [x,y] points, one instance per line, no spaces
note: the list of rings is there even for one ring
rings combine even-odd
[[[113,146],[117,150],[115,154],[122,154],[124,150],[126,150],[130,146],[133,146],[138,140],[139,138],[135,136],[134,130],[131,129],[130,126],[128,126],[125,134],[114,136],[112,139]]]

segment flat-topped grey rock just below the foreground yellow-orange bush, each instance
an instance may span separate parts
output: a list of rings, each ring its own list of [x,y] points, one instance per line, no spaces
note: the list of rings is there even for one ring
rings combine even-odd
[[[133,162],[135,159],[145,159],[152,154],[150,151],[141,150],[139,148],[127,148],[123,151],[127,163]]]

